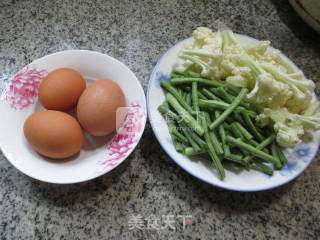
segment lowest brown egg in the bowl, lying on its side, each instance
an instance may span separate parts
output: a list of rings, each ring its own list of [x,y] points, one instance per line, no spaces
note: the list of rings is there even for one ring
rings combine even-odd
[[[35,112],[27,118],[23,130],[30,145],[50,158],[70,157],[79,152],[83,144],[79,123],[64,112]]]

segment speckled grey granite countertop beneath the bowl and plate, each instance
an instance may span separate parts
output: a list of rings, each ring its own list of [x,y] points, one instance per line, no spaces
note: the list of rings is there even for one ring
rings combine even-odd
[[[168,47],[197,26],[215,28],[218,19],[236,32],[271,40],[320,83],[320,36],[278,0],[1,0],[0,82],[36,58],[77,48],[125,62],[146,89],[152,66]],[[316,239],[319,176],[318,156],[296,181],[276,190],[220,190],[170,160],[147,125],[125,163],[78,185],[32,180],[0,154],[0,238]],[[130,230],[138,214],[173,215],[175,229]],[[178,215],[192,215],[192,224],[183,229]]]

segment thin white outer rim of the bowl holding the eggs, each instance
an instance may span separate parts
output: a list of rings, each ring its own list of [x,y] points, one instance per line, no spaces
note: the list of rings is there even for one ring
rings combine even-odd
[[[40,58],[37,58],[35,60],[33,60],[32,62],[26,64],[25,66],[23,66],[22,68],[20,68],[18,71],[15,71],[13,74],[11,74],[9,76],[9,81],[6,82],[6,85],[4,87],[4,91],[2,91],[2,93],[0,94],[0,99],[6,94],[6,91],[7,91],[7,88],[9,87],[10,85],[10,82],[12,80],[12,78],[19,72],[21,71],[22,69],[28,67],[28,66],[31,66],[32,64],[36,64],[37,62],[39,61],[43,61],[45,58],[47,57],[50,57],[50,56],[54,56],[54,55],[58,55],[58,54],[63,54],[63,53],[66,53],[66,52],[81,52],[83,54],[86,54],[86,53],[89,53],[89,54],[99,54],[103,57],[107,57],[109,59],[111,59],[112,61],[115,61],[117,62],[118,64],[120,64],[122,67],[124,68],[127,68],[129,70],[129,72],[131,72],[137,82],[137,86],[138,86],[138,89],[140,91],[140,94],[141,96],[143,96],[143,106],[142,106],[142,109],[144,111],[144,114],[145,114],[145,117],[144,117],[144,120],[141,121],[143,123],[143,127],[139,133],[139,135],[137,135],[137,142],[133,145],[134,147],[132,147],[129,151],[128,151],[128,154],[123,158],[121,159],[121,161],[119,161],[118,164],[116,164],[115,166],[112,166],[108,169],[105,169],[103,171],[99,171],[97,172],[96,175],[92,175],[86,179],[82,179],[82,180],[74,180],[74,181],[64,181],[64,182],[60,182],[60,181],[55,181],[55,180],[48,180],[48,179],[43,179],[41,177],[38,177],[37,175],[34,175],[34,174],[30,174],[30,173],[27,173],[24,171],[23,168],[21,168],[18,164],[16,164],[15,161],[12,161],[11,160],[11,153],[7,152],[7,150],[2,146],[2,144],[0,143],[0,150],[2,151],[3,155],[5,156],[5,158],[8,160],[8,162],[10,164],[12,164],[16,169],[18,169],[21,173],[23,173],[24,175],[32,178],[32,179],[35,179],[35,180],[38,180],[38,181],[41,181],[41,182],[46,182],[46,183],[51,183],[51,184],[58,184],[58,185],[68,185],[68,184],[76,184],[76,183],[82,183],[82,182],[87,182],[87,181],[90,181],[92,179],[95,179],[95,178],[98,178],[98,177],[101,177],[105,174],[107,174],[108,172],[111,172],[113,169],[117,168],[120,164],[122,164],[130,155],[131,153],[136,149],[136,147],[138,146],[141,138],[142,138],[142,135],[144,133],[144,130],[145,130],[145,127],[146,127],[146,123],[147,123],[147,118],[148,118],[148,114],[147,114],[147,103],[146,103],[146,95],[145,95],[145,92],[143,90],[143,87],[141,85],[141,82],[138,80],[137,76],[135,75],[135,73],[126,65],[124,64],[123,62],[119,61],[118,59],[108,55],[108,54],[105,54],[105,53],[101,53],[101,52],[97,52],[97,51],[92,51],[92,50],[85,50],[85,49],[71,49],[71,50],[62,50],[62,51],[58,51],[58,52],[54,52],[54,53],[50,53],[50,54],[47,54],[43,57],[40,57]]]

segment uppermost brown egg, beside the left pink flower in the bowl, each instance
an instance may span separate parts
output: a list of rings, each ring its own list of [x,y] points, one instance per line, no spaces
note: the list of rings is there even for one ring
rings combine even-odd
[[[71,68],[58,68],[40,83],[39,101],[48,110],[66,111],[77,105],[86,88],[81,74]]]

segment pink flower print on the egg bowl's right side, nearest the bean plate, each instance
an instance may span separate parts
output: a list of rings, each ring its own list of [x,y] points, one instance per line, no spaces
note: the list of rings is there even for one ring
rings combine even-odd
[[[146,114],[140,104],[131,103],[127,108],[123,125],[107,143],[107,159],[102,165],[113,168],[129,155],[144,128]]]

